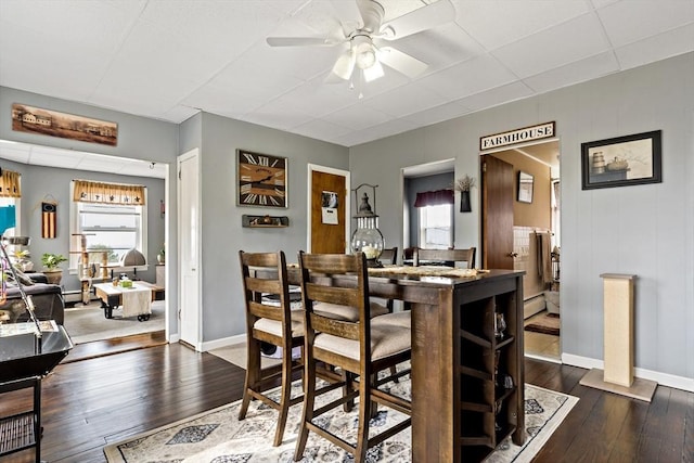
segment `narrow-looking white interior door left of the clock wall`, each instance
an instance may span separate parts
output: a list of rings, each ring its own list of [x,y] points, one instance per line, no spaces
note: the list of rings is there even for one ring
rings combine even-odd
[[[181,340],[202,349],[200,159],[197,149],[178,158],[179,313]]]

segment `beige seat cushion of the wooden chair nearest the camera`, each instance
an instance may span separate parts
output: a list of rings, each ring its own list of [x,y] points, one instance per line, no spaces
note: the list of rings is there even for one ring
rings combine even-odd
[[[385,317],[385,316],[384,316]],[[378,360],[411,349],[412,331],[389,323],[382,323],[383,317],[371,320],[371,360]],[[313,346],[359,360],[359,342],[320,333]]]

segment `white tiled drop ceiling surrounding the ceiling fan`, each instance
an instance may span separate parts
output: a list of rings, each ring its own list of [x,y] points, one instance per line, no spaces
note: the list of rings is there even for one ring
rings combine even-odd
[[[380,3],[388,21],[429,0]],[[0,86],[175,124],[205,111],[351,146],[694,51],[694,0],[452,4],[437,27],[388,42],[427,63],[422,75],[384,66],[372,82],[356,73],[327,85],[347,42],[266,39],[352,31],[355,0],[0,0]]]

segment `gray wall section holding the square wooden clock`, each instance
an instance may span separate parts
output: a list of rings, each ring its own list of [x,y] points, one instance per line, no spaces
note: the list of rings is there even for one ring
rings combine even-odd
[[[239,250],[281,249],[288,262],[296,262],[297,252],[307,248],[308,164],[347,170],[349,153],[344,146],[206,113],[201,127],[203,339],[210,342],[246,331]],[[288,208],[236,205],[236,149],[288,158]],[[242,228],[244,214],[287,216],[290,227]]]

